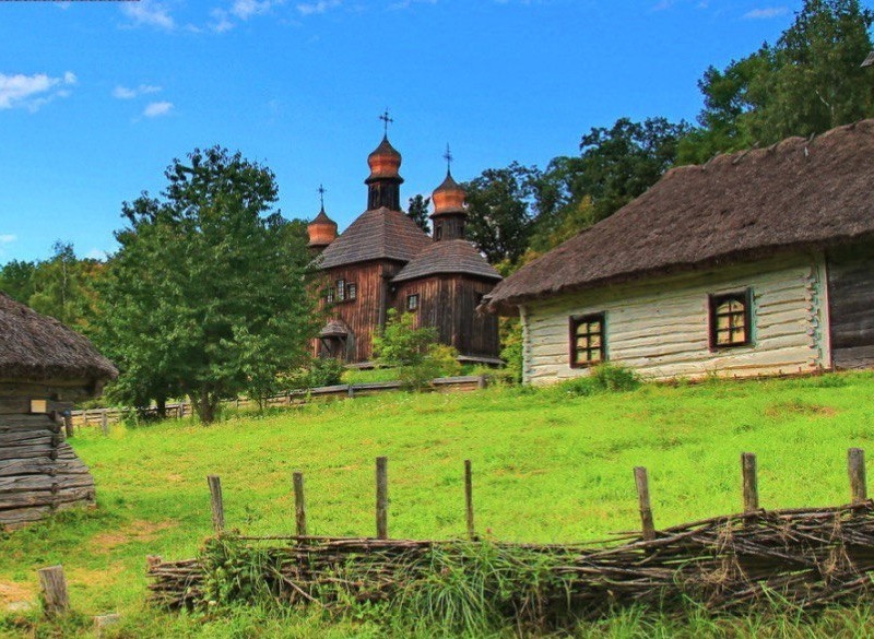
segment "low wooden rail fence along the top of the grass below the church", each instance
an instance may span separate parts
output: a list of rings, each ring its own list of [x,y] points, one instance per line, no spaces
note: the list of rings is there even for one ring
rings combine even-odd
[[[487,378],[484,375],[460,377],[440,377],[432,381],[432,389],[437,392],[465,392],[485,388]],[[312,400],[352,399],[366,397],[379,392],[397,391],[402,388],[400,381],[378,381],[368,383],[350,383],[326,386],[306,390],[285,391],[264,400],[268,407],[298,406]],[[253,409],[258,401],[249,398],[239,398],[223,402],[226,407]],[[137,413],[141,417],[157,417],[157,406],[142,409],[88,409],[71,411],[70,424],[73,427],[101,426],[106,429],[109,425],[121,422],[128,415]],[[165,418],[181,419],[193,415],[191,402],[172,402],[165,407]]]

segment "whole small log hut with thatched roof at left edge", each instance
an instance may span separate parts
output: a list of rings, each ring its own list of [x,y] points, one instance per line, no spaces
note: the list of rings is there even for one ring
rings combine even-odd
[[[62,413],[117,375],[85,338],[0,293],[0,529],[94,501]]]

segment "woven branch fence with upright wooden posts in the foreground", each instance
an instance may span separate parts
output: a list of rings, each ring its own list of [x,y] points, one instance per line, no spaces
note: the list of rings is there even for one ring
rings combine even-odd
[[[757,602],[816,610],[857,601],[874,587],[874,504],[866,497],[860,449],[849,453],[852,502],[848,506],[759,509],[755,457],[744,453],[744,512],[663,530],[653,525],[646,471],[635,469],[641,532],[588,545],[479,540],[473,532],[470,462],[465,462],[470,540],[387,539],[386,465],[380,458],[376,513],[382,539],[307,536],[299,473],[294,482],[297,535],[227,534],[221,484],[210,477],[218,534],[208,541],[199,559],[150,558],[152,601],[170,608],[208,604],[217,596],[216,570],[227,569],[240,552],[257,557],[247,564],[255,567],[256,581],[282,604],[335,608],[352,599],[403,605],[405,597],[435,579],[451,579],[453,569],[468,575],[479,570],[501,615],[512,623],[540,626],[597,617],[623,605],[680,611],[688,601],[713,611],[743,610]],[[234,597],[245,595],[238,590]]]

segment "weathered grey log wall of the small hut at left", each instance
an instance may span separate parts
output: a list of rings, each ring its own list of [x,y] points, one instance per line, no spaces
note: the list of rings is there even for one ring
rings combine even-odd
[[[0,384],[0,530],[94,502],[94,480],[63,440],[62,422],[31,413],[31,399],[48,392],[27,390]]]

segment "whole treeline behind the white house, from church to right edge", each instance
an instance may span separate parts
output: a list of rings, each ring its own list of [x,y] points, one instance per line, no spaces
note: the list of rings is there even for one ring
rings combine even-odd
[[[777,43],[705,71],[696,123],[621,118],[544,169],[484,170],[465,185],[470,239],[507,273],[612,215],[672,166],[874,117],[874,69],[861,67],[872,19],[858,0],[805,0]]]

